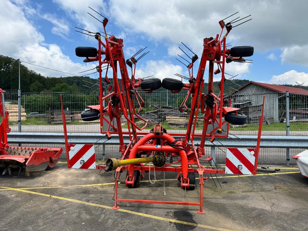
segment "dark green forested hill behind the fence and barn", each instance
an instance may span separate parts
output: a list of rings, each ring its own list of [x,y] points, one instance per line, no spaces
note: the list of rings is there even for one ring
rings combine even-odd
[[[166,76],[171,78],[171,76]],[[111,84],[112,84],[112,79]],[[120,80],[120,79],[118,79]],[[234,89],[239,88],[248,83],[247,79],[232,79],[225,82],[225,93],[232,92]],[[93,92],[95,83],[98,83],[97,79],[90,77],[45,77],[41,74],[28,69],[26,66],[20,64],[20,86],[22,92]],[[214,92],[218,93],[219,82],[214,82]],[[84,86],[85,85],[85,86]],[[121,86],[121,85],[120,85]],[[308,86],[294,86],[284,85],[289,87],[300,87],[308,90]],[[18,89],[18,61],[9,57],[0,56],[0,88],[5,90],[16,90]],[[97,89],[97,86],[93,88]],[[207,92],[208,83],[205,82],[203,91]],[[160,88],[156,90],[157,93],[164,92],[166,89]]]

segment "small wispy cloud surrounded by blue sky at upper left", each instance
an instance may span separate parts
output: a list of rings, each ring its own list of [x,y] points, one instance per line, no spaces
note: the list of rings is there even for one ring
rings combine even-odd
[[[67,34],[70,31],[70,28],[65,19],[57,19],[55,14],[43,14],[42,18],[46,19],[54,25],[54,27],[51,29],[53,34],[59,35],[63,39],[67,39]]]

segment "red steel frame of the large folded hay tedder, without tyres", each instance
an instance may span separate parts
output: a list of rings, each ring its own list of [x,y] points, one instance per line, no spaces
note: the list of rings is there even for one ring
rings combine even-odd
[[[136,97],[139,110],[141,110],[141,107],[144,105],[143,99],[140,97],[137,88],[140,87],[140,83],[144,79],[135,79],[135,70],[136,70],[136,63],[137,60],[135,58],[131,58],[130,60],[126,61],[126,63],[131,62],[131,65],[128,65],[131,67],[131,77],[129,77],[127,65],[125,63],[124,58],[124,52],[122,47],[123,45],[123,39],[117,39],[114,35],[111,35],[109,38],[107,37],[106,33],[106,25],[107,25],[107,18],[104,18],[103,20],[103,28],[104,28],[104,42],[102,41],[102,37],[100,33],[96,33],[95,38],[98,40],[98,55],[96,58],[86,58],[84,62],[91,62],[91,61],[99,61],[99,86],[100,86],[100,92],[99,92],[99,105],[97,106],[89,106],[90,108],[97,109],[100,112],[100,132],[103,134],[106,134],[108,137],[110,137],[110,134],[108,132],[109,128],[112,126],[112,121],[115,119],[117,121],[118,128],[114,128],[115,134],[119,135],[120,139],[120,148],[119,152],[122,152],[122,158],[120,160],[124,159],[134,159],[136,158],[136,154],[143,151],[150,155],[153,152],[164,152],[165,155],[172,156],[176,155],[179,156],[179,160],[177,160],[174,163],[180,163],[181,166],[178,168],[172,167],[171,164],[165,164],[162,168],[154,168],[150,166],[146,166],[142,163],[138,164],[128,164],[126,166],[121,166],[116,169],[115,174],[115,204],[113,206],[113,209],[119,209],[119,206],[117,205],[117,202],[138,202],[138,203],[160,203],[160,204],[180,204],[180,205],[196,205],[200,206],[200,210],[198,210],[198,213],[204,213],[203,211],[203,181],[206,180],[208,177],[204,177],[204,173],[221,173],[224,174],[225,171],[223,169],[214,169],[214,168],[206,168],[200,164],[199,160],[211,160],[211,158],[207,159],[201,159],[202,156],[205,155],[204,150],[204,144],[205,144],[205,138],[210,137],[210,140],[213,141],[215,138],[219,137],[228,137],[227,135],[223,134],[222,131],[222,124],[226,123],[222,121],[222,117],[230,112],[230,111],[237,111],[239,108],[231,108],[229,107],[231,105],[230,102],[227,102],[223,98],[223,85],[224,85],[224,79],[225,79],[225,59],[229,57],[228,53],[229,50],[226,50],[226,36],[228,35],[231,28],[225,27],[225,23],[221,20],[219,22],[221,26],[221,34],[226,28],[227,32],[223,36],[222,39],[221,35],[216,35],[215,38],[205,38],[203,43],[203,51],[201,56],[200,65],[197,71],[197,75],[195,78],[195,81],[192,81],[189,84],[184,84],[183,89],[188,89],[188,93],[186,98],[184,99],[180,110],[187,109],[186,106],[186,100],[188,97],[192,97],[191,106],[190,106],[190,117],[188,121],[188,127],[186,134],[181,133],[166,133],[166,131],[160,126],[155,125],[153,130],[148,132],[140,132],[144,128],[147,127],[147,121],[144,120],[142,117],[138,115],[136,112],[136,107],[134,105],[134,102],[132,100],[132,97]],[[223,46],[223,49],[221,50],[221,46]],[[104,58],[102,57],[104,55]],[[222,56],[222,61],[221,61]],[[194,62],[197,59],[192,59],[192,63],[188,65],[188,72],[191,79],[194,78],[192,75],[191,69],[193,68]],[[205,73],[205,66],[207,61],[209,61],[209,87],[208,87],[208,93],[205,95],[202,93],[203,83],[204,83],[204,73]],[[103,77],[102,77],[102,65],[108,64],[108,68],[111,67],[112,74],[113,74],[113,88],[108,88],[108,93],[106,95],[103,94],[102,86],[103,86]],[[217,64],[218,69],[214,71],[214,64]],[[134,68],[132,67],[134,65]],[[118,71],[118,66],[119,70]],[[106,83],[110,83],[109,79],[107,78],[107,71],[104,78],[104,81]],[[213,93],[213,75],[221,72],[221,83],[219,84],[221,93],[219,96],[216,96]],[[120,83],[122,87],[122,91],[120,89],[120,85],[118,83],[118,75],[120,74]],[[113,91],[111,91],[113,89]],[[151,92],[149,92],[151,93]],[[106,107],[103,107],[103,100],[108,101],[108,105]],[[213,107],[206,106],[205,107],[205,101],[206,100],[212,100]],[[61,98],[62,102],[62,98]],[[141,103],[140,103],[141,102]],[[219,106],[218,106],[219,104]],[[227,104],[227,107],[226,107]],[[199,105],[200,108],[199,108]],[[195,134],[195,128],[196,128],[196,122],[197,122],[197,115],[199,110],[204,114],[204,126],[203,126],[203,132],[202,134]],[[125,119],[128,122],[128,132],[123,132],[121,128],[121,122],[120,117],[121,113],[123,113]],[[103,131],[103,120],[106,120],[104,115],[109,116],[109,125],[107,132]],[[145,125],[140,128],[136,125],[134,120],[134,115],[145,122]],[[263,114],[262,114],[263,115]],[[218,116],[218,119],[217,119]],[[218,127],[214,128],[214,122],[217,122]],[[65,127],[65,115],[63,114],[63,123]],[[213,132],[210,132],[209,134],[206,132],[208,125],[213,126]],[[260,120],[259,124],[259,136],[258,136],[258,143],[257,143],[257,150],[259,148],[260,144],[260,136],[261,136],[261,126],[262,126],[262,120]],[[229,128],[229,124],[228,124]],[[228,132],[229,130],[227,130]],[[216,132],[216,134],[215,134]],[[66,144],[67,142],[67,134],[65,130],[65,140]],[[217,134],[218,133],[218,134]],[[128,134],[130,137],[130,143],[128,145],[124,144],[123,140],[123,134]],[[143,135],[142,138],[138,137],[138,135]],[[183,136],[183,139],[176,140],[173,138],[173,136]],[[193,137],[201,137],[201,145],[196,148],[195,144],[193,143]],[[172,147],[171,143],[174,143],[176,145],[182,145],[181,147],[184,147],[183,149]],[[68,149],[67,149],[68,152]],[[68,156],[68,155],[67,155]],[[145,156],[145,155],[144,155]],[[257,168],[257,157],[258,157],[258,151],[256,155],[256,161],[255,161],[255,169]],[[174,164],[173,163],[173,164]],[[197,164],[197,168],[190,168],[189,164]],[[68,166],[69,166],[69,159],[68,159]],[[104,169],[106,165],[96,164],[97,169]],[[123,170],[128,170],[128,177],[126,178],[125,184],[126,185],[134,185],[135,182],[135,176],[134,171],[141,171],[141,177],[144,176],[144,171],[152,170],[154,169],[157,171],[168,171],[168,172],[177,172],[178,176],[180,173],[182,173],[182,177],[180,179],[181,181],[181,188],[187,187],[189,188],[189,179],[188,179],[188,172],[194,172],[198,173],[200,176],[200,202],[182,202],[182,201],[154,201],[154,200],[138,200],[138,199],[121,199],[118,198],[118,183],[119,183],[119,177],[120,172]],[[254,172],[256,174],[256,172]]]

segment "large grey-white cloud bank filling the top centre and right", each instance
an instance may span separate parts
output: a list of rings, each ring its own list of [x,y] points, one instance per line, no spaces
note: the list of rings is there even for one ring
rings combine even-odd
[[[223,7],[226,4],[228,7]],[[193,4],[189,1],[164,0],[140,1],[138,4],[131,4],[126,0],[110,2],[110,13],[124,30],[145,33],[153,40],[189,42],[194,49],[200,47],[197,45],[202,45],[203,38],[214,37],[220,33],[219,20],[237,11],[238,14],[226,19],[225,22],[238,16],[252,14],[253,20],[234,27],[227,41],[234,46],[254,45],[256,51],[307,43],[305,38],[308,32],[301,29],[306,26],[307,8],[307,1],[294,4],[282,0],[239,1],[231,5],[226,0],[197,0]],[[301,32],[301,35],[286,36],[286,31],[294,35]]]

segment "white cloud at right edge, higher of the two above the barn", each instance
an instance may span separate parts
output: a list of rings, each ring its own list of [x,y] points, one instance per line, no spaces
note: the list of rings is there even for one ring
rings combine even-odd
[[[282,63],[296,63],[308,66],[308,45],[285,48],[280,57]]]

